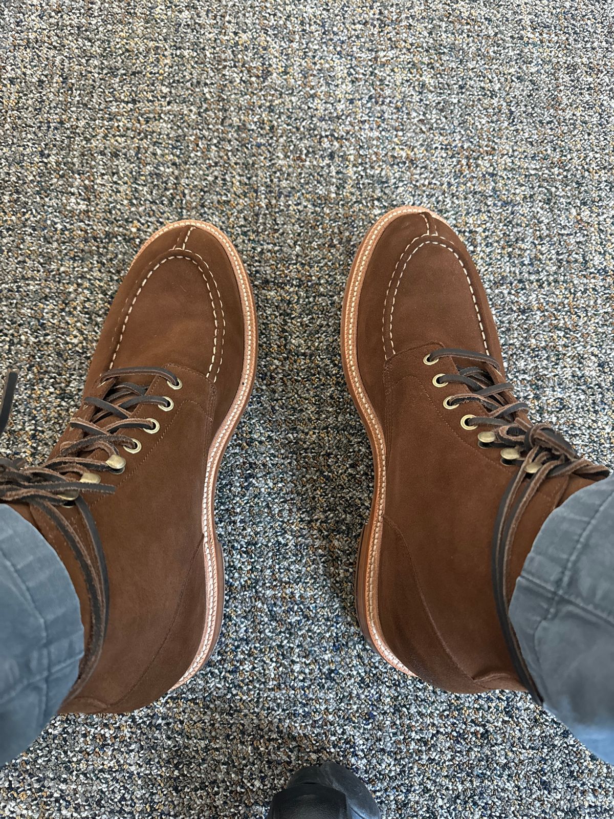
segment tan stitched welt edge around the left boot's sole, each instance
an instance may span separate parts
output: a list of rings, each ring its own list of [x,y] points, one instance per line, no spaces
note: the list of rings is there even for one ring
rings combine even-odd
[[[183,676],[175,683],[172,690],[178,688],[178,686],[183,686],[183,683],[192,679],[192,676],[205,665],[211,654],[213,654],[215,644],[219,638],[219,632],[222,629],[224,572],[223,552],[215,531],[215,483],[217,481],[219,465],[224,450],[228,446],[228,441],[230,441],[233,432],[237,428],[237,424],[241,420],[247,402],[250,400],[258,357],[258,322],[256,319],[254,293],[252,292],[251,282],[243,267],[241,257],[225,233],[209,222],[201,222],[195,219],[181,219],[178,222],[165,224],[163,228],[156,231],[142,246],[139,253],[144,251],[161,233],[184,226],[199,228],[210,233],[220,242],[228,254],[228,259],[233,267],[237,288],[241,296],[244,347],[242,376],[237,393],[233,399],[233,403],[230,405],[230,409],[228,409],[228,413],[211,441],[207,455],[205,492],[202,502],[202,527],[204,535],[203,559],[205,562],[205,601],[207,607],[205,627],[201,637],[201,643],[198,646],[192,663],[190,663],[187,671],[183,673]]]

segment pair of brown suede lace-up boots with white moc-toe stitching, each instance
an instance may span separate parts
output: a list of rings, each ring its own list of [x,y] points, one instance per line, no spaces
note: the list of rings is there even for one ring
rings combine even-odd
[[[0,501],[42,532],[81,603],[84,658],[62,711],[139,708],[210,657],[223,613],[215,481],[257,340],[233,244],[211,224],[169,224],[124,278],[47,464],[0,459]],[[356,572],[364,634],[436,686],[539,699],[508,603],[545,518],[607,470],[529,421],[472,260],[429,210],[397,208],[367,233],[341,353],[375,468]],[[0,432],[14,387],[11,373]]]

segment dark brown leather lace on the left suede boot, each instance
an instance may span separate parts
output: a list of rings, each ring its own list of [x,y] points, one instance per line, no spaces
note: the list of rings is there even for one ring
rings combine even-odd
[[[102,652],[109,613],[109,582],[106,561],[100,536],[93,515],[83,498],[84,493],[109,494],[115,486],[83,482],[80,476],[87,473],[117,473],[112,456],[119,456],[119,447],[131,448],[133,438],[127,434],[133,429],[151,429],[149,419],[135,419],[133,411],[142,404],[168,405],[165,396],[147,395],[148,387],[126,380],[129,377],[162,376],[169,384],[178,387],[178,378],[161,367],[133,367],[108,370],[100,383],[108,382],[104,398],[88,397],[84,405],[92,407],[85,412],[87,418],[75,417],[70,428],[82,434],[76,441],[66,441],[54,458],[42,467],[26,466],[23,459],[0,458],[0,503],[28,504],[45,514],[64,537],[74,554],[88,590],[90,610],[90,634],[85,646],[79,677],[66,698],[72,699],[91,676]],[[150,380],[150,383],[151,383]],[[0,436],[7,427],[15,396],[17,375],[7,374],[2,400],[0,400]],[[102,450],[106,460],[93,455]],[[84,523],[87,540],[70,525],[60,508],[74,505]]]

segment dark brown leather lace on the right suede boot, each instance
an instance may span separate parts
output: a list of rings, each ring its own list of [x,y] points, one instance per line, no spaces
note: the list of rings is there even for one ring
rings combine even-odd
[[[462,384],[468,392],[449,396],[450,406],[478,401],[487,411],[467,420],[467,425],[488,428],[494,440],[483,446],[499,447],[504,462],[517,467],[499,505],[494,526],[492,550],[492,581],[494,600],[503,636],[512,663],[521,683],[540,704],[543,700],[522,657],[517,636],[509,618],[508,563],[510,550],[530,500],[550,477],[579,475],[589,480],[601,480],[609,471],[576,452],[571,444],[548,423],[530,423],[523,413],[528,405],[512,395],[512,382],[500,378],[499,363],[491,355],[455,348],[438,349],[428,356],[430,363],[450,357],[476,362],[457,373],[445,373],[440,382]]]

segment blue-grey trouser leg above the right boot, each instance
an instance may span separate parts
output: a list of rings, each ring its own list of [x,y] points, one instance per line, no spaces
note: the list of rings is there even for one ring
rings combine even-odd
[[[546,708],[614,763],[614,475],[547,518],[510,615]]]

